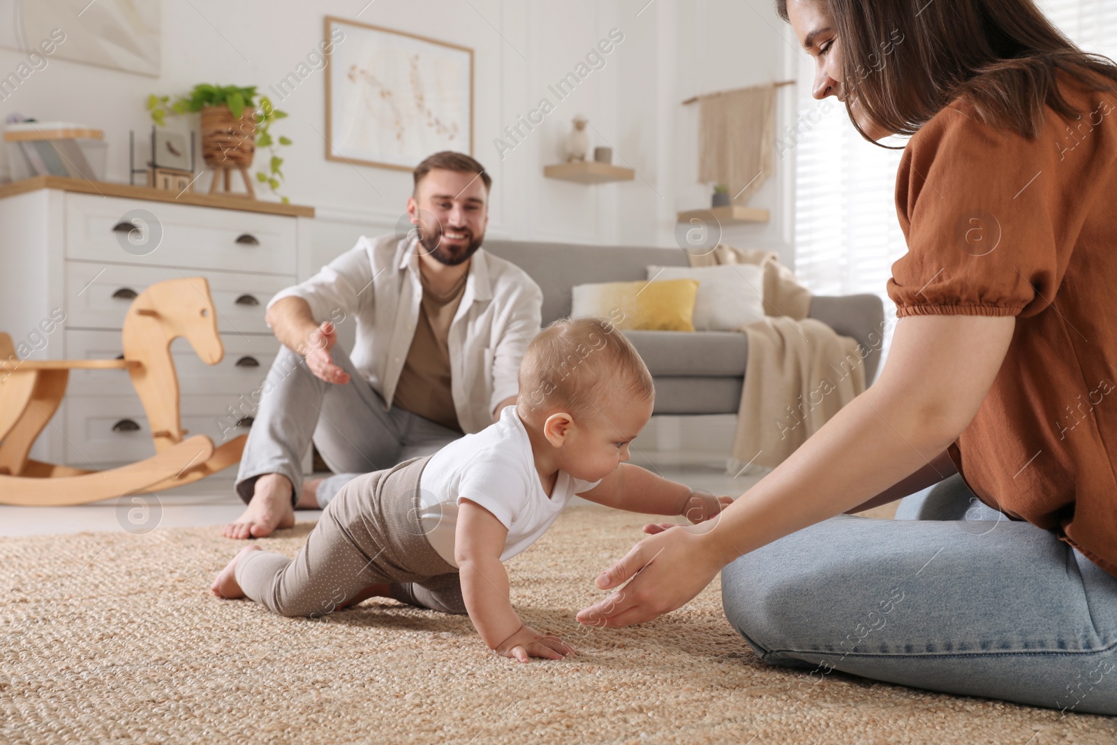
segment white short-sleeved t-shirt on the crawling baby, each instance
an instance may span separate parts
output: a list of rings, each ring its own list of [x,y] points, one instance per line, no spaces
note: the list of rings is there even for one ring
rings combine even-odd
[[[422,527],[435,551],[457,566],[454,536],[458,504],[462,498],[475,502],[508,528],[500,554],[505,562],[546,533],[571,497],[600,483],[560,470],[548,497],[516,407],[505,407],[498,421],[450,442],[427,462],[419,478]]]

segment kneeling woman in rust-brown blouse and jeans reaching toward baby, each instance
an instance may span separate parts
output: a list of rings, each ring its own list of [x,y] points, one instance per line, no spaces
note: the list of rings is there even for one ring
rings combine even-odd
[[[1031,0],[777,8],[815,98],[913,135],[888,362],[716,526],[647,526],[579,620],[647,621],[724,567],[734,627],[815,680],[1117,714],[1117,66]],[[920,519],[841,515],[939,481]]]

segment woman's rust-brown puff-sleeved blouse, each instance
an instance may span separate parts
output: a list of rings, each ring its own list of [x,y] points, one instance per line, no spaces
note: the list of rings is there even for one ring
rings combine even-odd
[[[911,137],[888,294],[898,316],[1016,316],[951,457],[984,503],[1117,575],[1117,94],[1060,75],[1081,116],[1047,107],[1038,137],[961,99]]]

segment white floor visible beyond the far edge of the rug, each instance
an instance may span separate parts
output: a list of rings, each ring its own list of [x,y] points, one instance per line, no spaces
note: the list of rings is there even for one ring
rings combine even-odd
[[[643,457],[649,456],[651,459]],[[718,495],[741,496],[756,483],[758,475],[734,478],[715,462],[663,465],[672,460],[667,453],[633,453],[632,461],[658,471],[695,489],[706,489]],[[656,465],[653,465],[656,464]],[[0,505],[0,536],[45,535],[51,533],[79,533],[82,531],[127,531],[144,534],[157,528],[221,525],[236,518],[245,509],[233,494],[236,475],[230,468],[170,491],[140,494],[118,499],[96,502],[75,507],[17,507]],[[299,510],[299,520],[317,519],[318,510]]]

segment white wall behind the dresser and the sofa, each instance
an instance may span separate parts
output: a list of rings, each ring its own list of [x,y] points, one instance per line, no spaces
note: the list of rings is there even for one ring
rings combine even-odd
[[[322,42],[324,17],[340,16],[474,48],[474,154],[494,179],[489,235],[670,246],[676,211],[708,204],[707,187],[694,183],[697,107],[680,102],[786,77],[786,47],[774,30],[783,23],[767,0],[751,2],[164,0],[161,77],[51,58],[0,102],[0,115],[19,112],[104,130],[108,179],[126,182],[128,130],[147,131],[150,93],[182,93],[199,82],[256,84],[266,90]],[[65,30],[80,22],[61,18],[58,26]],[[624,40],[605,57],[605,66],[557,101],[548,84],[571,71],[613,28]],[[0,75],[23,58],[0,49]],[[392,229],[411,185],[405,172],[325,160],[324,80],[316,71],[279,103],[290,116],[276,125],[295,141],[285,153],[286,193],[318,209],[316,266],[362,232]],[[793,94],[783,90],[781,102],[790,105]],[[555,104],[554,113],[502,159],[494,139],[544,96]],[[543,165],[561,160],[563,136],[579,113],[590,120],[592,144],[614,146],[613,162],[634,168],[634,181],[584,187],[543,178]],[[192,120],[172,121],[174,127],[188,124],[197,127]],[[726,240],[773,248],[790,261],[789,166],[781,162],[780,175],[752,201],[772,210],[772,222],[727,229]],[[203,176],[197,185],[207,183]]]

